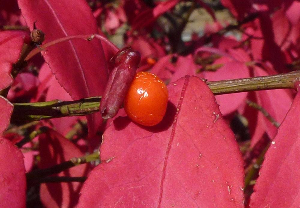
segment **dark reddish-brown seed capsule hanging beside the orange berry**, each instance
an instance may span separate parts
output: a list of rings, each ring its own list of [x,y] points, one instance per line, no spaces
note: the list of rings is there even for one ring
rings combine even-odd
[[[112,118],[118,113],[140,60],[140,53],[131,48],[122,49],[111,59],[114,68],[100,103],[103,118]]]

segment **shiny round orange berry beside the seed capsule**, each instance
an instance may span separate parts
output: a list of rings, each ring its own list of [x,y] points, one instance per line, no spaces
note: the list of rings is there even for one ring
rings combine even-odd
[[[166,113],[168,96],[161,79],[149,72],[138,72],[125,97],[124,109],[134,122],[154,126]]]

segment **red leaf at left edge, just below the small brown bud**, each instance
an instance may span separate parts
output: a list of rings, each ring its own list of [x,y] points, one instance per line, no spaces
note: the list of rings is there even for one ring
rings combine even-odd
[[[0,32],[0,90],[8,87],[13,82],[10,75],[12,64],[19,59],[24,40],[29,40],[25,31]]]

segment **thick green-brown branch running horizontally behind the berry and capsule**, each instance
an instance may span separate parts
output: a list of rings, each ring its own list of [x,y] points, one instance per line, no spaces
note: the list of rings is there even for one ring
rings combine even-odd
[[[300,80],[300,71],[245,79],[207,82],[214,95],[257,90],[293,88]],[[74,101],[52,100],[40,103],[14,103],[11,120],[42,120],[65,116],[81,116],[99,111],[101,96]]]

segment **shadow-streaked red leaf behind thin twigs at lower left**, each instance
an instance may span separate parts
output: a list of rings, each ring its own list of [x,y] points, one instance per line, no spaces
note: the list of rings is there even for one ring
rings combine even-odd
[[[49,168],[83,153],[71,141],[49,130],[39,136],[40,168]],[[58,176],[80,177],[87,173],[88,165],[79,165],[63,171]],[[81,183],[43,183],[40,188],[41,201],[46,207],[73,207],[79,197]]]

